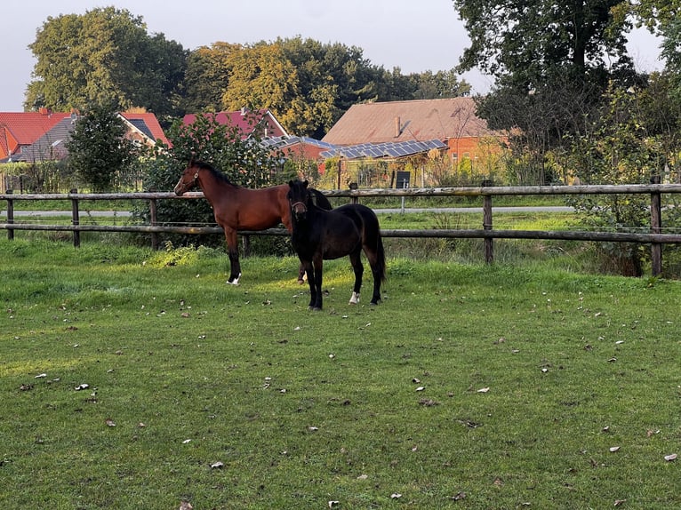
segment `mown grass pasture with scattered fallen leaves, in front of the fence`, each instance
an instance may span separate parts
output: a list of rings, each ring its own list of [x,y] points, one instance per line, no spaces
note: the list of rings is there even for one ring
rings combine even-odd
[[[2,508],[681,506],[680,282],[389,252],[312,313],[293,258],[0,259]]]

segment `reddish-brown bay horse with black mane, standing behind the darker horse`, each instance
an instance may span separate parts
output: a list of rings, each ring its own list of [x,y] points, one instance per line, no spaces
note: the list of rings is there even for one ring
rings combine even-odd
[[[283,223],[292,232],[291,206],[286,194],[286,184],[260,189],[241,187],[229,181],[227,176],[212,165],[201,161],[190,161],[182,171],[174,187],[175,195],[183,195],[200,187],[205,199],[211,204],[215,221],[225,231],[229,256],[229,278],[227,283],[239,284],[241,264],[239,263],[237,230],[265,230]],[[321,192],[313,191],[320,207],[331,209],[331,203]],[[303,270],[299,271],[302,283]]]

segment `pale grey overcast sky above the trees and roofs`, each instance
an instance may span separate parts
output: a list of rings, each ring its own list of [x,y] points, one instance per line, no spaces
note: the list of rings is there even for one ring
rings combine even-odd
[[[36,60],[28,44],[48,17],[114,5],[140,16],[149,34],[195,50],[217,41],[252,44],[302,36],[358,46],[373,65],[403,74],[454,68],[469,44],[452,0],[4,0],[0,8],[0,111],[22,111]],[[657,42],[639,31],[629,44],[637,68],[661,68]],[[484,93],[489,78],[463,78]]]

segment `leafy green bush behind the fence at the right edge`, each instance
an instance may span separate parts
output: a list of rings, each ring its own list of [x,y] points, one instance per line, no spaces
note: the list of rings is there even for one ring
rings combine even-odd
[[[593,129],[574,140],[566,164],[583,184],[647,184],[678,180],[681,149],[681,111],[669,104],[669,82],[653,76],[645,87],[623,90],[612,86],[605,94]],[[663,211],[667,227],[681,223],[677,198],[667,198]],[[583,195],[571,203],[589,227],[639,232],[650,227],[650,198],[646,195]],[[642,275],[649,253],[638,244],[601,245],[609,266],[628,275]]]

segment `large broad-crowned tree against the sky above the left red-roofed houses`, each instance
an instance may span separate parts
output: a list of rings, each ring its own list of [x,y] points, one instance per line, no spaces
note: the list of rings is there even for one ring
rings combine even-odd
[[[163,34],[148,36],[141,18],[128,11],[106,7],[50,17],[29,48],[37,61],[28,109],[177,112],[187,52]]]

